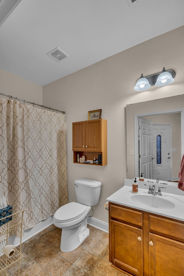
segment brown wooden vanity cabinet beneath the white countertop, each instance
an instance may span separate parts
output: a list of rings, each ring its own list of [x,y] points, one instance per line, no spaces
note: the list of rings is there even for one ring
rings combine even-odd
[[[126,275],[184,275],[184,222],[109,202],[109,261]]]

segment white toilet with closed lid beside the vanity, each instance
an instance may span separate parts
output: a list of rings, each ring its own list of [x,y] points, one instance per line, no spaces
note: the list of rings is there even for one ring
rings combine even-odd
[[[76,249],[88,236],[87,218],[91,206],[99,202],[101,182],[81,178],[74,181],[78,202],[70,202],[60,207],[53,216],[53,223],[62,228],[62,252]]]

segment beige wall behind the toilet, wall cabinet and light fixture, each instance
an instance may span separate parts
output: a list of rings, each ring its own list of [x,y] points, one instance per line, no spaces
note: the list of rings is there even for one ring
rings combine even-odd
[[[125,38],[126,39],[126,38]],[[66,111],[67,181],[69,201],[75,201],[74,180],[91,178],[102,182],[94,218],[108,222],[106,198],[127,177],[126,105],[184,93],[184,26],[106,58],[43,87],[43,104]],[[176,72],[172,85],[136,92],[133,87],[143,73]],[[184,106],[184,104],[183,104]],[[108,165],[73,164],[72,122],[87,120],[88,111],[102,109],[108,122]],[[131,168],[129,168],[131,170]]]

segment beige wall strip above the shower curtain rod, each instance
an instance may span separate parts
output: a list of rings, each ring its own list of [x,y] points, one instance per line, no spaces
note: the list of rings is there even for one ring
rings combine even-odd
[[[19,99],[42,103],[42,86],[0,69],[0,92]],[[0,97],[3,97],[0,95]]]

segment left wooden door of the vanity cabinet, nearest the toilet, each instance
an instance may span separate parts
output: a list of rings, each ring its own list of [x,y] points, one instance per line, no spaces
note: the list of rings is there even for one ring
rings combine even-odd
[[[143,275],[142,230],[110,220],[110,262],[133,275]]]

